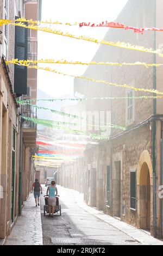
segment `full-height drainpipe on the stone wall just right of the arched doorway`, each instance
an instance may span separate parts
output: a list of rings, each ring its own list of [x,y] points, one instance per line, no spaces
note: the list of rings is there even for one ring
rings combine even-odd
[[[153,0],[153,27],[156,27],[156,0]],[[156,49],[156,33],[153,32],[153,49]],[[153,63],[156,56],[153,54]],[[156,67],[153,67],[153,89],[156,89]],[[156,114],[156,99],[153,99],[153,114]],[[156,161],[155,161],[156,120],[152,125],[152,164],[153,164],[153,232],[156,237]]]

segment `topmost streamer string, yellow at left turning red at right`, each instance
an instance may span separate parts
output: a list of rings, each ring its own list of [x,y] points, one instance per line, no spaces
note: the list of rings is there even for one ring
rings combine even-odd
[[[141,33],[143,34],[145,31],[156,31],[156,32],[163,32],[163,28],[155,28],[155,27],[144,27],[144,28],[139,28],[139,27],[132,27],[132,26],[126,26],[122,23],[119,22],[108,22],[108,21],[102,21],[100,23],[93,23],[93,22],[59,22],[59,21],[34,21],[32,19],[24,19],[24,18],[19,18],[17,20],[0,20],[0,26],[2,25],[8,25],[10,23],[16,23],[16,22],[27,22],[32,25],[41,25],[41,24],[47,24],[47,25],[65,25],[65,26],[79,26],[81,27],[108,27],[108,28],[121,28],[125,30],[132,30],[135,33]]]

